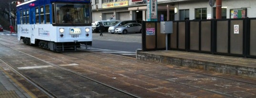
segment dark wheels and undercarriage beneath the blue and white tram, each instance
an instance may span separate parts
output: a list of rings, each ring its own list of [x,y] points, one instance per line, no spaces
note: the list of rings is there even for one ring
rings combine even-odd
[[[81,47],[81,44],[84,44],[86,49],[89,46],[92,46],[92,41],[85,41],[85,42],[51,42],[45,40],[36,40],[35,44],[31,44],[30,38],[23,38],[22,39],[24,44],[27,45],[35,45],[39,46],[43,49],[50,49],[52,51],[76,51],[77,48]]]

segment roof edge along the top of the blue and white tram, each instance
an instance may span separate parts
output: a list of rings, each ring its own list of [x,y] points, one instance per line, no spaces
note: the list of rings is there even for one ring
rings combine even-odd
[[[29,0],[23,3],[18,4],[16,7],[20,7],[22,5],[25,5],[28,7],[27,4],[34,3],[35,6],[45,5],[45,4],[51,4],[51,2],[84,2],[84,3],[90,3],[91,0]]]

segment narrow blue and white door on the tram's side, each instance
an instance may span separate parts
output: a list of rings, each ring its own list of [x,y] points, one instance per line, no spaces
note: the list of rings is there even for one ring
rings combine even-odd
[[[31,24],[31,43],[34,43],[34,32],[36,27],[35,8],[30,9],[30,24]]]

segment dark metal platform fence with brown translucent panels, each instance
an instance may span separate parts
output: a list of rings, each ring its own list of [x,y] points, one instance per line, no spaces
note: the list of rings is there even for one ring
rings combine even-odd
[[[160,21],[143,21],[143,51],[164,50]],[[169,50],[256,58],[256,18],[173,21]]]

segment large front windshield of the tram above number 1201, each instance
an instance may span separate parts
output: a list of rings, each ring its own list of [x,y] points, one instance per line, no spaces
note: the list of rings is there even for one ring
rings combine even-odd
[[[56,23],[90,23],[89,4],[56,4]]]

